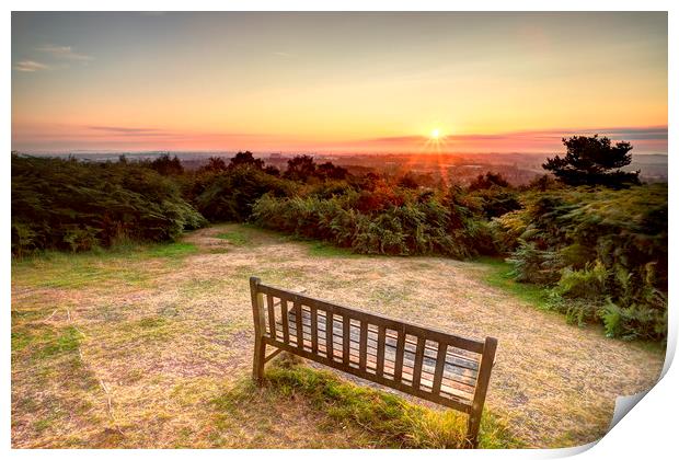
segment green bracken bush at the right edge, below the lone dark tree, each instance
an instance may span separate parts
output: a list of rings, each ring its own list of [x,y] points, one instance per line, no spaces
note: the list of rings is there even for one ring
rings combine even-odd
[[[528,192],[493,223],[517,280],[611,336],[667,337],[667,184]]]

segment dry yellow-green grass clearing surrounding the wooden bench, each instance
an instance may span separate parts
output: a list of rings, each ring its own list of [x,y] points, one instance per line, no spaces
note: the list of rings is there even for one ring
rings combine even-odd
[[[599,438],[615,396],[657,380],[661,350],[566,324],[504,271],[488,261],[357,256],[237,225],[172,244],[15,261],[12,445],[454,446],[462,421],[453,413],[347,376],[279,364],[253,387],[252,275],[497,337],[482,447]]]

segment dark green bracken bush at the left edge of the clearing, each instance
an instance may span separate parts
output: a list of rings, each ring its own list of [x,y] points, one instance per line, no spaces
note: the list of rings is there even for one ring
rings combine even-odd
[[[12,154],[12,253],[173,240],[205,219],[175,182],[137,163]]]

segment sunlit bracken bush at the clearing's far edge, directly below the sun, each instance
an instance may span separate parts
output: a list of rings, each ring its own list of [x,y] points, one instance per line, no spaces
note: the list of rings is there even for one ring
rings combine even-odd
[[[494,250],[487,223],[457,191],[447,195],[413,191],[343,189],[323,198],[265,195],[252,220],[265,228],[319,239],[361,254],[442,254],[458,258]]]

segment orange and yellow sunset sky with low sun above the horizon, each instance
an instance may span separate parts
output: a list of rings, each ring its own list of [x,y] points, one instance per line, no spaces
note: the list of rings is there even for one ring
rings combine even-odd
[[[667,152],[667,13],[13,12],[12,150]]]

